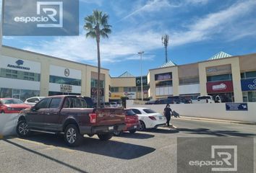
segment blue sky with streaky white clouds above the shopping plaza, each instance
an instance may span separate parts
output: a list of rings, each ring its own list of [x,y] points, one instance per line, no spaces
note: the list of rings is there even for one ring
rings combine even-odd
[[[1,0],[0,0],[1,2]],[[85,38],[84,17],[106,12],[112,25],[101,40],[102,66],[111,76],[140,76],[165,62],[161,36],[168,34],[168,59],[181,65],[205,61],[220,51],[256,53],[256,1],[235,0],[80,0],[80,36],[4,37],[3,44],[97,65],[95,40]]]

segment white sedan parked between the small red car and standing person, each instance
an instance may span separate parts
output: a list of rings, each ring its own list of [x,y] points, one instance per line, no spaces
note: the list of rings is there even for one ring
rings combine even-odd
[[[139,116],[140,129],[157,128],[158,126],[166,124],[166,117],[154,110],[150,110],[147,107],[130,107],[133,112]]]

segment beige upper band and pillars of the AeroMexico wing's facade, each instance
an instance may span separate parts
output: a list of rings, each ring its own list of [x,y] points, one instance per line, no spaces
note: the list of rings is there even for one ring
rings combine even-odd
[[[66,68],[73,68],[82,71],[82,84],[81,84],[81,94],[90,97],[90,81],[91,74],[95,72],[97,74],[98,68],[95,66],[90,66],[82,63],[76,63],[74,61],[66,61],[61,58],[54,58],[51,56],[45,56],[39,53],[32,53],[25,50],[17,50],[15,48],[2,48],[3,56],[9,56],[14,58],[21,58],[29,61],[36,61],[41,63],[41,77],[40,77],[40,96],[48,96],[49,92],[49,75],[50,75],[50,65],[63,66]],[[101,74],[105,78],[105,100],[108,100],[108,92],[110,85],[109,70],[101,68]]]

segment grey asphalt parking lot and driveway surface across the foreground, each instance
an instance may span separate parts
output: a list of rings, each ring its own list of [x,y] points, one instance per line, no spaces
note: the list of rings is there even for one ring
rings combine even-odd
[[[110,141],[86,137],[76,148],[67,147],[62,136],[49,134],[4,138],[0,172],[176,172],[177,137],[256,136],[255,125],[182,119],[172,123],[177,129],[124,133]]]

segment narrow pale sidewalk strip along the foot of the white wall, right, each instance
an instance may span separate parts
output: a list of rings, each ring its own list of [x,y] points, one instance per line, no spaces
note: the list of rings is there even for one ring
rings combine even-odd
[[[221,119],[214,119],[214,118],[208,118],[208,117],[180,116],[180,120],[201,120],[201,121],[208,121],[208,122],[215,122],[215,123],[233,123],[233,124],[244,124],[244,125],[256,125],[256,123],[253,123],[253,122],[237,121],[237,120],[221,120]]]

